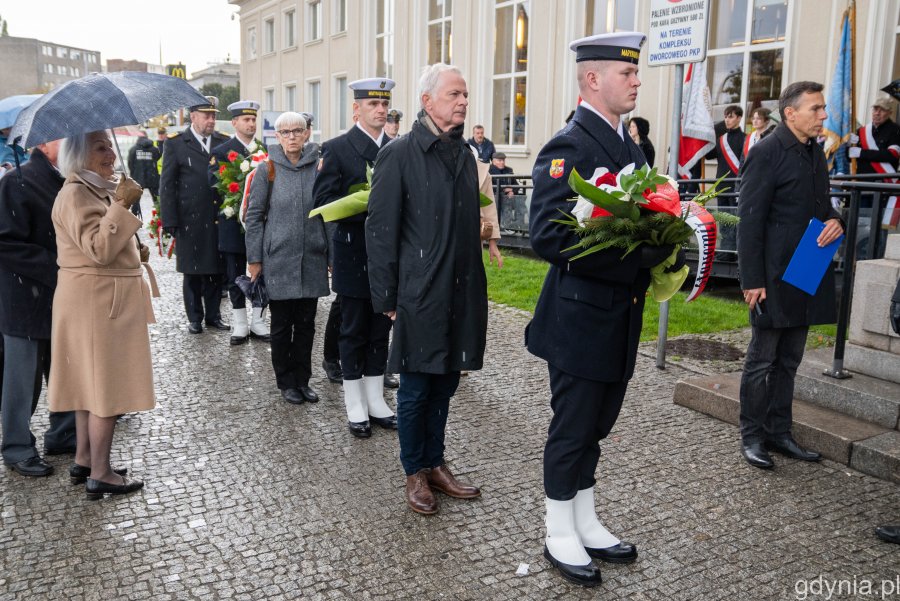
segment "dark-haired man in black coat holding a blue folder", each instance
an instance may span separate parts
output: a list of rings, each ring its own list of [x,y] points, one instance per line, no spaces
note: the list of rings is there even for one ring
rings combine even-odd
[[[791,436],[791,404],[809,326],[835,321],[834,271],[828,268],[813,296],[782,276],[813,217],[825,222],[819,246],[843,234],[816,144],[826,118],[822,85],[792,83],[778,104],[782,123],[747,155],[738,204],[738,266],[753,330],[741,378],[741,452],[759,468],[774,465],[767,448],[803,461],[821,458]]]

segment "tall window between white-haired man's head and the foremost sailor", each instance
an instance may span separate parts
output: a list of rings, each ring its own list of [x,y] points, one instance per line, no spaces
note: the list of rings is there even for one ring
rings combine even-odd
[[[494,19],[492,137],[497,144],[525,144],[530,2],[498,2]]]

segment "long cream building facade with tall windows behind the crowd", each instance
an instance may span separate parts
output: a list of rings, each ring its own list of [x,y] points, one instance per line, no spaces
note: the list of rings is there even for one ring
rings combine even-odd
[[[419,109],[420,70],[457,65],[469,85],[467,129],[485,126],[517,173],[564,124],[578,90],[571,40],[647,31],[650,0],[229,0],[241,19],[242,96],[264,110],[316,116],[316,139],[352,123],[347,83],[397,81],[393,106],[408,131]],[[788,83],[828,86],[847,0],[712,0],[707,75],[713,117],[725,106],[774,106]],[[877,90],[900,76],[900,0],[857,1],[857,119]],[[650,121],[664,163],[672,114],[672,66],[648,67],[635,115]],[[467,136],[469,133],[467,132]]]

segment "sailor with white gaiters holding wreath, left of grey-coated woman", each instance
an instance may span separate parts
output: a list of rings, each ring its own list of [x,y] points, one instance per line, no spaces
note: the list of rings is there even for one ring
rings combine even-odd
[[[259,103],[253,100],[239,100],[228,105],[231,112],[231,125],[234,136],[212,149],[213,161],[209,164],[210,184],[215,186],[220,163],[227,163],[228,155],[236,152],[237,156],[247,158],[254,152],[265,150],[262,142],[255,139],[256,116]],[[248,168],[250,163],[247,163]],[[219,198],[218,193],[216,197]],[[221,201],[221,199],[220,199]],[[244,228],[238,221],[235,210],[219,211],[219,252],[225,270],[225,289],[231,301],[231,340],[232,346],[247,342],[250,336],[261,340],[269,340],[269,329],[263,316],[263,309],[252,307],[251,320],[247,323],[247,302],[244,293],[235,284],[238,276],[247,273],[247,246],[244,242]]]

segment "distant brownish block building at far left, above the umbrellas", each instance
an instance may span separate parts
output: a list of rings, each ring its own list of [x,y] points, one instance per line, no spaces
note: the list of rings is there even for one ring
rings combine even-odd
[[[99,72],[100,53],[42,42],[0,37],[0,90],[3,96],[43,94],[72,79]]]

